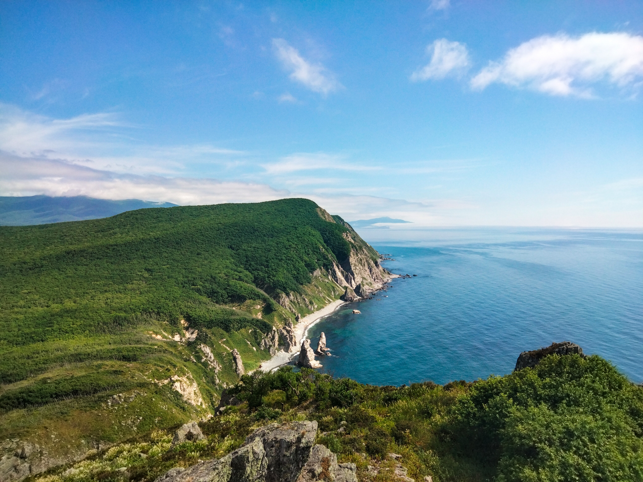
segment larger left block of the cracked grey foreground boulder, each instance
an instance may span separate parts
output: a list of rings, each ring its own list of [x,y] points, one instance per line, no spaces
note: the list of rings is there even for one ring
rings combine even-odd
[[[168,470],[156,482],[296,482],[311,456],[316,433],[317,422],[267,425],[224,458]]]

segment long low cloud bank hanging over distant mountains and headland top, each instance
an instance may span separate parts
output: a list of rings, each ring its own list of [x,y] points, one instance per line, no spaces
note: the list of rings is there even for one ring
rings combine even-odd
[[[93,169],[64,159],[21,157],[0,151],[0,193],[9,196],[45,194],[87,195],[99,199],[144,199],[175,204],[219,204],[221,202],[262,202],[286,197],[305,197],[345,219],[403,217],[414,222],[437,219],[431,205],[372,195],[301,194],[278,190],[268,184],[133,175]]]

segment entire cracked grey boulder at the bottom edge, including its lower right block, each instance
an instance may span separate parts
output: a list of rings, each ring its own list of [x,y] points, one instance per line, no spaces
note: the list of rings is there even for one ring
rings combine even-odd
[[[314,445],[317,422],[261,427],[239,449],[219,460],[168,470],[156,482],[357,482],[353,463],[337,463],[323,445]]]

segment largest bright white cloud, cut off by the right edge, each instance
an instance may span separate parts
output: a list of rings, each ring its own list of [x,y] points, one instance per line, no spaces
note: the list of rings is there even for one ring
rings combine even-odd
[[[581,37],[543,35],[489,62],[471,87],[498,82],[558,96],[592,96],[589,85],[605,81],[620,88],[643,79],[643,37],[629,33],[586,33]]]

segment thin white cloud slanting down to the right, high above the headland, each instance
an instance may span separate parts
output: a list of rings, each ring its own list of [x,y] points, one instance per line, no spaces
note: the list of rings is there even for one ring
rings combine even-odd
[[[293,48],[284,39],[273,39],[276,56],[282,66],[291,72],[290,78],[305,85],[311,91],[328,94],[341,87],[323,65],[307,62],[296,48]]]

